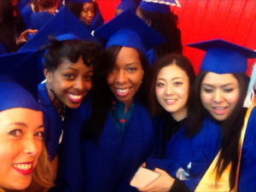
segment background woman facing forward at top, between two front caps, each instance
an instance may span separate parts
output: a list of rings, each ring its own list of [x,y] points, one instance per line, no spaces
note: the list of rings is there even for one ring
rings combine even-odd
[[[104,20],[98,4],[92,0],[70,0],[67,8],[71,10],[84,26],[90,31],[102,26]]]

